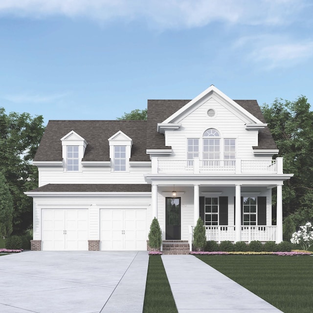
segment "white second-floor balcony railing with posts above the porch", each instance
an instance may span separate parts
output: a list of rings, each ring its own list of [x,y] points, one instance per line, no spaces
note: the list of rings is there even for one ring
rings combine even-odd
[[[275,160],[193,160],[152,157],[152,174],[283,174],[283,158]]]

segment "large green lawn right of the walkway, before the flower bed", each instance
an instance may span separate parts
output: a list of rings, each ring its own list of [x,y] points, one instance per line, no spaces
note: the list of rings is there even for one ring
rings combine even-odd
[[[197,256],[284,313],[313,312],[312,256]]]

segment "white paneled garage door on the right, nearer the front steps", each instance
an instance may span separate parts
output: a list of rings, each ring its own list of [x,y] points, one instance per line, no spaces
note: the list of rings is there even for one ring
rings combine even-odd
[[[100,210],[101,250],[147,250],[145,209]]]

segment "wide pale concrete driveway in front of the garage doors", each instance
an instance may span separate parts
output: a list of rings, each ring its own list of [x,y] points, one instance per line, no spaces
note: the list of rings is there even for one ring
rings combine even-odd
[[[0,312],[142,312],[147,251],[24,251],[0,256]]]

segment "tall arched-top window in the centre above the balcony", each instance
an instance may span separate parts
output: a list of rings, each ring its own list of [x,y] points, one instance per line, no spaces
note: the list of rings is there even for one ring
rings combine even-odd
[[[220,164],[220,138],[219,132],[210,128],[206,130],[203,134],[203,137],[212,137],[212,138],[203,138],[203,163],[206,166],[218,166]]]

